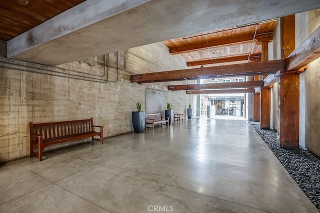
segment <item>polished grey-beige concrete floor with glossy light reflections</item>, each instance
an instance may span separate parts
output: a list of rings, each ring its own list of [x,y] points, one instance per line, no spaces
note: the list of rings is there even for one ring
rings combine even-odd
[[[0,164],[0,212],[318,212],[244,120],[186,119]]]

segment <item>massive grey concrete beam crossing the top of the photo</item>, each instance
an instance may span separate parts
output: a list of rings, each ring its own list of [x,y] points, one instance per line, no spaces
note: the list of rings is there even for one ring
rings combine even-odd
[[[7,55],[58,65],[315,8],[319,0],[86,0],[7,41]]]

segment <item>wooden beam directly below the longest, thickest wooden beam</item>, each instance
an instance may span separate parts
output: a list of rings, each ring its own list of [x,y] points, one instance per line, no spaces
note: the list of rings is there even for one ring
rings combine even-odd
[[[227,82],[227,83],[199,83],[169,85],[168,90],[196,90],[196,89],[221,89],[221,88],[247,88],[263,86],[263,80]]]

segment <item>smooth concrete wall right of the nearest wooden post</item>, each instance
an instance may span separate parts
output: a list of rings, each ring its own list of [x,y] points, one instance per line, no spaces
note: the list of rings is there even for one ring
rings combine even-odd
[[[320,26],[320,9],[296,14],[296,46]],[[320,156],[320,59],[300,74],[299,144]]]

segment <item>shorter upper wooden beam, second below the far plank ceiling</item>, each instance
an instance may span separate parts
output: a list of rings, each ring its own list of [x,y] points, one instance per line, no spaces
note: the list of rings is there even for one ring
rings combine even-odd
[[[201,64],[225,63],[225,62],[232,62],[232,61],[239,61],[239,60],[247,60],[248,56],[249,56],[249,54],[234,55],[234,56],[229,56],[229,57],[216,57],[216,58],[187,62],[186,65],[187,66],[196,66],[196,65],[201,65]],[[252,55],[249,57],[249,60],[251,62],[261,61],[261,55]]]

